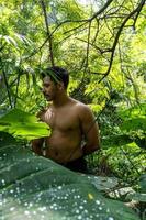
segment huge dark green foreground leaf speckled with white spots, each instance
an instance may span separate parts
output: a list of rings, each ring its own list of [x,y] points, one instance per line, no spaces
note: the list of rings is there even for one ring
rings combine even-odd
[[[5,220],[138,220],[105,198],[88,176],[74,173],[20,144],[0,147],[0,205]]]

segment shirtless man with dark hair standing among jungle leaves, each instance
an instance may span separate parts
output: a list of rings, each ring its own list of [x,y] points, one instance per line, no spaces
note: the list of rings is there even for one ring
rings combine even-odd
[[[34,140],[33,151],[43,154],[72,170],[86,173],[85,155],[100,147],[99,129],[93,113],[87,105],[67,95],[69,75],[66,69],[50,67],[44,70],[43,94],[50,106],[38,113],[50,130],[50,136]],[[83,143],[82,143],[83,141]]]

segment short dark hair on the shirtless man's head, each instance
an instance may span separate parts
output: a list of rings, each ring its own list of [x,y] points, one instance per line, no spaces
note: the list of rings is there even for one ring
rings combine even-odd
[[[43,69],[41,73],[42,78],[45,76],[49,76],[53,81],[56,84],[58,81],[63,81],[65,88],[67,89],[68,84],[69,84],[69,74],[65,68],[61,68],[59,66],[54,66],[54,67],[48,67]]]

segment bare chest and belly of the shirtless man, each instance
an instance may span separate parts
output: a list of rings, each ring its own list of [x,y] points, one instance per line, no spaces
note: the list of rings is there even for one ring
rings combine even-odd
[[[43,111],[41,119],[52,129],[50,136],[45,138],[46,157],[58,163],[67,163],[82,156],[78,105],[80,102],[71,100],[64,107],[50,106]]]

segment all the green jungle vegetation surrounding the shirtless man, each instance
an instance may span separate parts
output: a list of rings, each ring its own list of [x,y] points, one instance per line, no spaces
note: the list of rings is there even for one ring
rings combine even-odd
[[[145,220],[145,3],[0,0],[0,219]],[[35,116],[46,106],[41,70],[54,65],[99,123],[91,176],[30,150],[48,134]]]

